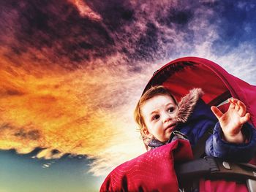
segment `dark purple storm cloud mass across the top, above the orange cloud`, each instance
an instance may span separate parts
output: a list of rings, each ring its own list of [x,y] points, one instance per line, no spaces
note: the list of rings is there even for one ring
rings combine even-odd
[[[7,57],[31,52],[34,62],[61,63],[68,59],[71,67],[96,58],[108,60],[116,53],[132,65],[156,61],[170,58],[182,52],[183,45],[192,44],[194,33],[189,23],[195,17],[206,17],[194,13],[206,9],[197,1],[189,9],[189,1],[85,2],[101,20],[83,17],[69,1],[2,1],[0,25],[8,26],[9,33],[3,32],[1,42],[9,48]],[[177,41],[183,45],[177,46]],[[189,46],[186,49],[189,51]]]

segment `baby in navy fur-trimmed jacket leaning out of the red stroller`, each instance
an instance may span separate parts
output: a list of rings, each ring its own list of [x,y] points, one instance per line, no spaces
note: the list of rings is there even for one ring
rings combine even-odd
[[[214,128],[206,141],[206,155],[230,161],[249,161],[256,150],[255,128],[247,123],[250,115],[238,99],[228,99],[230,106],[222,113],[208,107],[200,97],[200,88],[192,89],[178,103],[162,85],[141,96],[135,108],[135,121],[147,149],[171,142],[173,131],[180,131],[192,147],[206,131]]]

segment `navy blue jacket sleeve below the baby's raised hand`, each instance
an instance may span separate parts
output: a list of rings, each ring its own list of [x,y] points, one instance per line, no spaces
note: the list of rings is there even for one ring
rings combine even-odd
[[[227,161],[250,161],[256,151],[256,130],[251,124],[245,123],[242,131],[249,139],[248,142],[242,144],[226,142],[221,138],[222,129],[219,122],[216,123],[214,133],[206,141],[206,155],[224,158]]]

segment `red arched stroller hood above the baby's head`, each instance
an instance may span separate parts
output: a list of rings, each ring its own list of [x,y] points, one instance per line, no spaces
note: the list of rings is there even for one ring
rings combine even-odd
[[[256,126],[256,86],[229,74],[221,66],[205,58],[178,58],[162,66],[146,85],[164,85],[179,100],[192,88],[202,88],[203,100],[209,105],[218,105],[233,96],[246,104],[251,123]]]

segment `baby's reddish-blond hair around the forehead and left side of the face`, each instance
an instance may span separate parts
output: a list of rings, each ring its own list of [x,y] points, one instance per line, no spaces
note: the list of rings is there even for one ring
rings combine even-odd
[[[173,99],[173,101],[175,102],[175,104],[178,105],[176,98],[170,93],[170,91],[167,88],[165,88],[162,85],[153,86],[150,89],[148,89],[148,91],[143,93],[143,95],[140,97],[140,100],[138,101],[138,104],[135,107],[134,118],[135,118],[135,122],[138,123],[141,138],[143,139],[143,142],[146,145],[148,145],[148,142],[150,141],[151,137],[148,137],[144,133],[146,124],[145,124],[143,115],[141,113],[141,107],[143,106],[143,104],[146,103],[146,101],[153,98],[154,96],[159,96],[159,95],[170,96]]]

